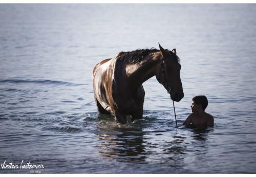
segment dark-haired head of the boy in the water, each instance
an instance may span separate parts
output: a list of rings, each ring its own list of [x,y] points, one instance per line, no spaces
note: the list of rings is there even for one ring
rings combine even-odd
[[[207,105],[208,105],[208,100],[206,96],[199,95],[192,98],[192,104],[190,107],[193,113],[197,113],[200,110],[205,110]]]

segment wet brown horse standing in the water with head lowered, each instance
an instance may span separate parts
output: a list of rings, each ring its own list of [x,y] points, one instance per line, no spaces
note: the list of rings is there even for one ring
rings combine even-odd
[[[120,52],[104,59],[93,69],[93,89],[97,108],[102,114],[114,114],[118,123],[126,116],[142,119],[145,92],[142,83],[156,76],[174,101],[183,97],[181,65],[176,49],[142,49]],[[171,92],[172,91],[172,92]]]

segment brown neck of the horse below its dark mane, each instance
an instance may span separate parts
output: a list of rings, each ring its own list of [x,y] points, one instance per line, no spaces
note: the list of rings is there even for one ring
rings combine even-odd
[[[159,53],[150,54],[139,63],[126,66],[126,76],[132,90],[138,89],[143,82],[156,75],[161,64],[160,58]]]

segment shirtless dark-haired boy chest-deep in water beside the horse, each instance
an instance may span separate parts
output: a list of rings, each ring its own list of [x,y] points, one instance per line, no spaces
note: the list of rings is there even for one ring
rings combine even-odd
[[[208,105],[206,96],[200,95],[192,99],[190,114],[182,125],[190,128],[205,129],[207,126],[214,126],[214,117],[205,112]]]

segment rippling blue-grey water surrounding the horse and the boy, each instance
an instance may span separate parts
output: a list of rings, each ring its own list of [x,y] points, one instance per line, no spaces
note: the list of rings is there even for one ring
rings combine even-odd
[[[41,173],[255,173],[256,5],[0,5],[0,163]],[[184,98],[206,95],[215,127],[175,128],[155,77],[142,120],[100,115],[92,69],[120,51],[176,48]],[[1,173],[35,170],[2,169]]]

